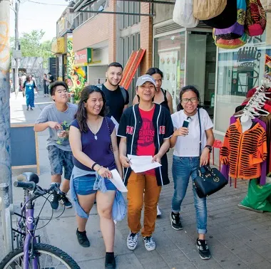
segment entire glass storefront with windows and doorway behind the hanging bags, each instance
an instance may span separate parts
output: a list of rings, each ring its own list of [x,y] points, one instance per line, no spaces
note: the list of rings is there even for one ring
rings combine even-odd
[[[265,72],[270,73],[265,65],[265,56],[271,56],[270,24],[267,20],[262,36],[249,37],[245,46],[234,50],[217,48],[212,29],[203,24],[190,29],[172,20],[156,24],[153,65],[163,71],[162,87],[173,96],[174,110],[180,89],[194,85],[214,122],[215,137],[223,140],[235,107],[248,90],[261,85]]]

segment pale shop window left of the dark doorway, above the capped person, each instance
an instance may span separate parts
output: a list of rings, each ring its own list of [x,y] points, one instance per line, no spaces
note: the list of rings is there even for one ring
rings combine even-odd
[[[185,83],[185,32],[155,38],[154,66],[163,72],[162,88],[172,95],[176,109]]]

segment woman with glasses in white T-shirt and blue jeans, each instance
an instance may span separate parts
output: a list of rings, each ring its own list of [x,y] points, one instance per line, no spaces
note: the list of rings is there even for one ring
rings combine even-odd
[[[194,86],[185,86],[180,90],[180,103],[178,112],[171,115],[174,125],[174,134],[170,138],[170,147],[173,152],[173,181],[174,194],[170,213],[170,223],[173,229],[182,230],[180,222],[180,206],[185,198],[190,178],[192,181],[198,176],[198,169],[208,164],[209,154],[212,151],[213,122],[208,112],[199,106],[200,93]],[[200,127],[202,136],[200,137]],[[200,199],[195,186],[193,196],[198,228],[196,246],[200,258],[210,259],[210,250],[205,234],[207,233],[207,206],[206,198]]]

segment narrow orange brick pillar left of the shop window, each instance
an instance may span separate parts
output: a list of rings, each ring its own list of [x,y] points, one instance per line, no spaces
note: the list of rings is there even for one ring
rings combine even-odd
[[[150,4],[141,3],[141,13],[148,14]],[[140,21],[140,47],[145,48],[145,56],[141,61],[140,73],[141,75],[150,68],[153,64],[153,19],[148,16],[141,16]]]

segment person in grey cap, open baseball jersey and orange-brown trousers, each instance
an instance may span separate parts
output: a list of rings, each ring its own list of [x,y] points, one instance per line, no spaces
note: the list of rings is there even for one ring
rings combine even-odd
[[[155,80],[150,75],[142,75],[136,82],[138,104],[128,107],[123,112],[118,127],[121,137],[120,159],[124,167],[124,183],[128,194],[127,247],[134,250],[138,244],[141,229],[140,216],[144,204],[144,225],[141,231],[145,248],[155,250],[153,232],[157,215],[157,204],[161,186],[169,184],[168,160],[165,152],[170,147],[173,124],[170,112],[165,107],[153,102],[155,97]],[[153,162],[161,167],[146,172],[135,173],[131,169],[127,154],[153,156]]]

